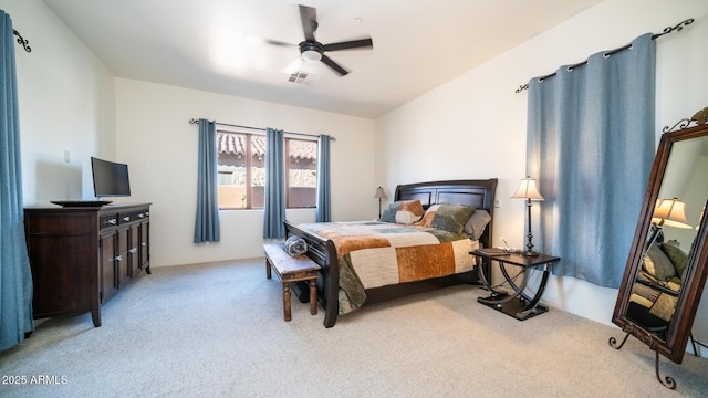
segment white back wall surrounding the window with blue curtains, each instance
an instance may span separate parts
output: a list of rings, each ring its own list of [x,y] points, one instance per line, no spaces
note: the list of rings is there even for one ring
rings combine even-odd
[[[221,94],[116,80],[117,154],[129,165],[131,201],[153,202],[150,265],[262,256],[263,211],[220,212],[221,242],[194,244],[198,128],[189,119],[329,134],[332,219],[374,219],[374,121]],[[314,222],[314,210],[289,210]]]

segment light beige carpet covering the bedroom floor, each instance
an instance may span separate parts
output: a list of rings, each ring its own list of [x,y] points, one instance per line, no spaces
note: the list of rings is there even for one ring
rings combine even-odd
[[[616,327],[551,308],[519,322],[456,286],[365,307],[325,329],[262,260],[160,268],[103,308],[53,318],[0,353],[4,397],[706,396],[708,363],[662,359]],[[607,314],[610,317],[611,314]],[[9,376],[27,384],[8,385]],[[43,380],[52,384],[30,384]],[[17,378],[15,378],[17,379]],[[59,383],[59,384],[55,384]]]

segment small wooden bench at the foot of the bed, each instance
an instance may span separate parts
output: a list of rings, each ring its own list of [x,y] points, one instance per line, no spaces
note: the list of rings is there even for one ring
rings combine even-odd
[[[283,250],[282,243],[263,244],[266,253],[266,277],[271,279],[271,270],[283,284],[283,313],[285,322],[292,318],[290,313],[290,284],[308,281],[310,283],[310,313],[317,313],[317,274],[320,265],[306,255],[292,256]]]

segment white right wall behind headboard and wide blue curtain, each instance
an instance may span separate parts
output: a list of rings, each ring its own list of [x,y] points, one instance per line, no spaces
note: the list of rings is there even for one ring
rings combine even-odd
[[[525,172],[527,94],[514,90],[560,65],[688,18],[696,22],[657,42],[658,138],[664,126],[708,105],[708,54],[700,50],[708,38],[705,0],[607,0],[382,116],[376,121],[376,184],[391,190],[410,181],[498,177],[494,244],[503,237],[522,247],[524,203],[509,197]],[[616,296],[614,289],[552,277],[544,301],[610,324]]]

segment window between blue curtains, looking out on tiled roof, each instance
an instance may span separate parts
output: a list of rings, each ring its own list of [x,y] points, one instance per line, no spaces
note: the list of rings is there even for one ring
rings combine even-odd
[[[285,138],[288,208],[316,203],[317,143]],[[220,209],[262,209],[266,185],[266,137],[217,132]]]

